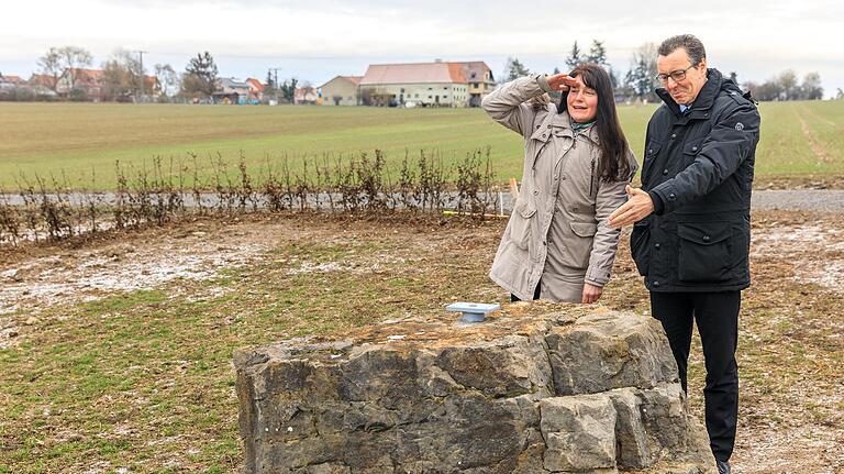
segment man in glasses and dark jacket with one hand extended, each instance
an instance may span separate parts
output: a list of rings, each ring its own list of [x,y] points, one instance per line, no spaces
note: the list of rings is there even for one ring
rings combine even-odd
[[[719,473],[730,473],[759,114],[732,80],[707,68],[697,37],[669,37],[658,55],[664,88],[656,93],[665,103],[647,125],[642,189],[628,189],[630,199],[610,216],[610,225],[635,223],[633,260],[651,291],[652,313],[668,335],[684,390],[697,321],[707,367],[707,431]]]

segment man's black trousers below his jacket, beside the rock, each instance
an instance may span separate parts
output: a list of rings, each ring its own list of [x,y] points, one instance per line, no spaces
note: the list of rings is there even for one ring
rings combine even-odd
[[[688,394],[686,371],[691,346],[692,321],[698,324],[707,366],[707,432],[712,453],[728,461],[735,443],[738,417],[738,341],[741,291],[657,293],[651,291],[651,311],[663,323],[677,361],[680,384]]]

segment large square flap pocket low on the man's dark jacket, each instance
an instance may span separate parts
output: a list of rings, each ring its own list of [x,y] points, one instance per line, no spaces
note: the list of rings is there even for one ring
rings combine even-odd
[[[677,278],[680,282],[721,283],[733,277],[730,222],[678,223],[677,234]]]

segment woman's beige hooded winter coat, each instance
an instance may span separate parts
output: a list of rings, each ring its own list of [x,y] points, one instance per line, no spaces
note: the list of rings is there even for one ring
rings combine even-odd
[[[541,298],[580,302],[584,282],[610,279],[620,231],[607,220],[626,200],[629,179],[600,179],[600,124],[576,134],[556,104],[530,103],[549,91],[544,76],[529,76],[482,101],[495,121],[525,140],[522,187],[489,276],[520,299],[533,299],[542,278]],[[629,159],[634,172],[632,153]]]

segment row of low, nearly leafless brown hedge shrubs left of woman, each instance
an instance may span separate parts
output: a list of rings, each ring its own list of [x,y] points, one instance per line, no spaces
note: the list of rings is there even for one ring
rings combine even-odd
[[[202,161],[196,153],[188,153],[187,162],[156,156],[137,167],[115,162],[115,186],[110,192],[98,190],[95,169],[89,186],[73,186],[64,174],[60,179],[36,174],[32,180],[21,175],[16,195],[0,192],[0,242],[16,245],[24,240],[85,238],[104,229],[164,225],[185,214],[260,210],[381,214],[451,208],[482,219],[495,209],[489,147],[469,152],[448,167],[440,151],[421,150],[411,159],[406,150],[396,174],[381,150],[346,156],[304,154],[296,159],[301,159],[301,166],[291,170],[287,154],[277,159],[267,156],[256,180],[243,152],[236,169],[230,169],[216,153],[209,155],[208,181],[201,178]],[[191,177],[189,188],[186,176]],[[11,203],[9,196],[18,203]],[[186,197],[192,198],[190,206]]]

